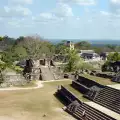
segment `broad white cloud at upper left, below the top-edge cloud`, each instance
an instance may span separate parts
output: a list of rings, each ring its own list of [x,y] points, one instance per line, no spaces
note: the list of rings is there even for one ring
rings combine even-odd
[[[23,17],[31,15],[32,12],[29,8],[18,6],[4,6],[4,11],[2,11],[2,17]]]

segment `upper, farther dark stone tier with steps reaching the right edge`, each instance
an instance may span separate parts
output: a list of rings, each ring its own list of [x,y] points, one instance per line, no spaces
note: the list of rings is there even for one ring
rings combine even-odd
[[[99,83],[79,76],[72,86],[84,93],[84,97],[120,114],[120,90],[100,85]],[[78,89],[81,88],[81,89]]]

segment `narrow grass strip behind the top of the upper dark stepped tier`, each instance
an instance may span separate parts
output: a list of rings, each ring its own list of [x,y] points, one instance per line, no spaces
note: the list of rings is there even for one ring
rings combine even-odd
[[[110,79],[106,79],[106,78],[102,78],[102,77],[96,77],[96,76],[92,76],[89,74],[84,74],[82,75],[83,77],[89,78],[91,80],[94,80],[102,85],[112,85],[112,84],[116,84],[115,82],[112,82]]]

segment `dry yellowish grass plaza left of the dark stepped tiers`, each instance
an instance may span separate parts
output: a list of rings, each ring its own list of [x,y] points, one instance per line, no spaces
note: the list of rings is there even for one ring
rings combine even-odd
[[[74,120],[61,108],[63,104],[54,97],[58,85],[71,84],[70,80],[46,82],[35,90],[1,91],[1,120]],[[43,115],[46,114],[46,117]]]

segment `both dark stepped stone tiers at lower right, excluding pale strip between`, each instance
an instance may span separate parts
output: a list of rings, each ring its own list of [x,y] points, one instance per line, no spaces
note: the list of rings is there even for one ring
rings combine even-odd
[[[120,90],[101,85],[83,76],[73,80],[71,86],[82,93],[83,97],[120,114]],[[64,86],[59,87],[56,96],[65,105],[64,110],[77,120],[118,120],[81,101]]]

